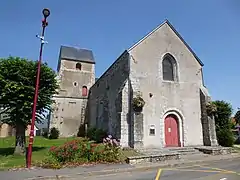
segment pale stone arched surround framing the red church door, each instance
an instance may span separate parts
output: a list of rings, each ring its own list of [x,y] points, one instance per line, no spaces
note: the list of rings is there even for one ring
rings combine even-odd
[[[180,111],[176,108],[171,108],[168,109],[164,115],[162,116],[162,122],[163,122],[163,127],[162,127],[162,144],[165,147],[166,143],[165,143],[165,119],[168,115],[175,115],[177,117],[177,122],[178,122],[178,132],[179,132],[179,141],[180,141],[180,147],[184,146],[184,136],[183,136],[183,115],[182,113],[180,113]]]

